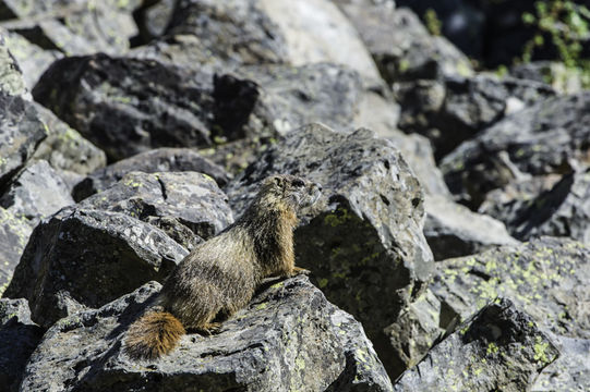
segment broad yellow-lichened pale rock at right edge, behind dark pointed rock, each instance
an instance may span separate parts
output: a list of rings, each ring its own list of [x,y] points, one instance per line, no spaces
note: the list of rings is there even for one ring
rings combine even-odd
[[[540,237],[441,261],[430,289],[461,319],[501,295],[526,307],[544,331],[589,339],[589,256],[581,243]]]

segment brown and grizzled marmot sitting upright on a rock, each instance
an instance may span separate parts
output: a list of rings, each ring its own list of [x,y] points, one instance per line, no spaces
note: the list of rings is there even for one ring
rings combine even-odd
[[[136,359],[168,354],[185,330],[210,333],[244,307],[268,277],[308,272],[294,266],[297,212],[321,186],[294,175],[266,179],[233,224],[196,246],[170,273],[155,305],[133,322],[124,348]]]

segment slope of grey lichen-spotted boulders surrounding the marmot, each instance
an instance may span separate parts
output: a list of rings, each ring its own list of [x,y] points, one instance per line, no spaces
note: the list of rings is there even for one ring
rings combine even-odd
[[[0,0],[0,391],[589,390],[590,93],[401,3]],[[310,277],[128,357],[275,173]]]

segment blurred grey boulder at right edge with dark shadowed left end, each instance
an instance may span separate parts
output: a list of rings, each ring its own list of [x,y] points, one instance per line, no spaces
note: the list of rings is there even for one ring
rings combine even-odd
[[[477,209],[487,192],[526,175],[590,164],[590,93],[551,98],[507,117],[442,161],[450,191]]]

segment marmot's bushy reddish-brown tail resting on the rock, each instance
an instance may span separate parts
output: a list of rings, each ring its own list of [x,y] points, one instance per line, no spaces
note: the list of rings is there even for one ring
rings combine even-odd
[[[186,333],[174,316],[152,311],[133,322],[127,332],[127,353],[136,359],[155,359],[168,354]]]

